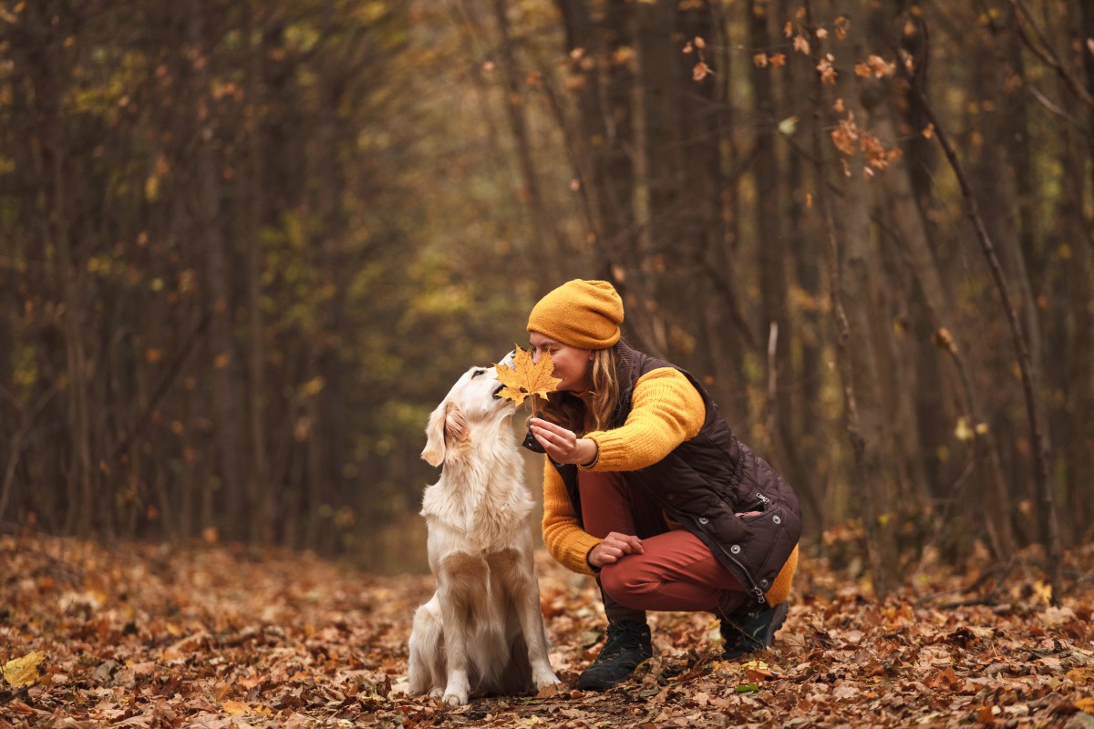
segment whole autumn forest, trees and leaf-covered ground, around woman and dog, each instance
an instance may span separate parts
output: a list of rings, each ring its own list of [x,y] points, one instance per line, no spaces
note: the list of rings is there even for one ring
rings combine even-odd
[[[0,0],[0,729],[1091,729],[1092,240],[1089,0]],[[429,413],[574,278],[789,616],[582,692],[537,550],[562,683],[408,695]]]

